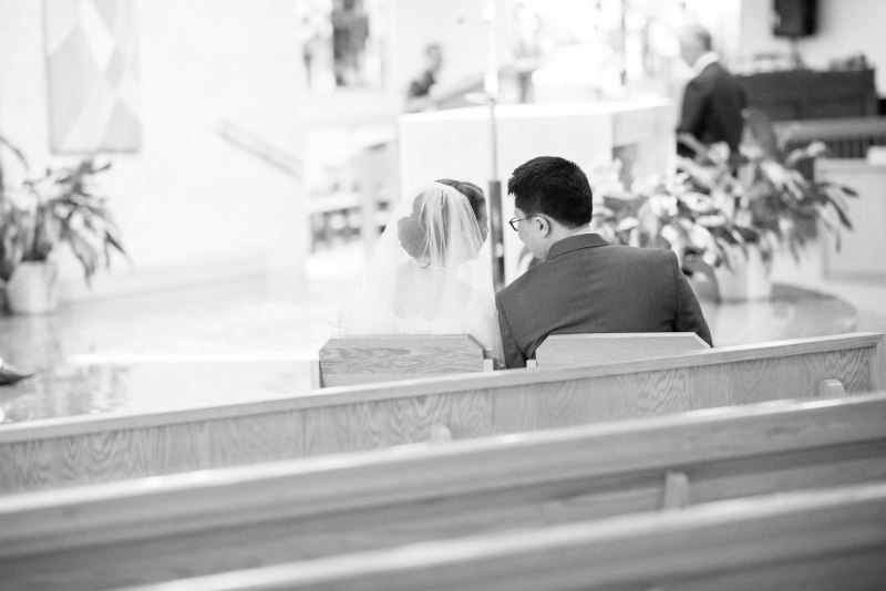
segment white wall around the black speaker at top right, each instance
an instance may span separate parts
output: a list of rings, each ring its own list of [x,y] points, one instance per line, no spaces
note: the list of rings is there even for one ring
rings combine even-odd
[[[742,0],[741,51],[745,54],[781,51],[786,39],[772,34],[772,0]],[[877,91],[886,95],[886,2],[883,0],[818,0],[815,35],[801,39],[799,50],[812,68],[825,68],[832,59],[863,52],[877,69]]]

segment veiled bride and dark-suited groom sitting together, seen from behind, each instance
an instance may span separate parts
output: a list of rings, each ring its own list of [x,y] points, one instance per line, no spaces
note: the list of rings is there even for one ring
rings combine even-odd
[[[711,333],[670,250],[611,245],[589,228],[585,173],[540,156],[507,182],[511,227],[543,261],[494,292],[483,190],[441,179],[404,199],[346,298],[348,334],[467,333],[497,363],[524,367],[549,334]]]

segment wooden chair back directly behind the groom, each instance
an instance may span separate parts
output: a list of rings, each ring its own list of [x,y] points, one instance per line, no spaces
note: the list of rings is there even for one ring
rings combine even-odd
[[[527,367],[579,367],[661,357],[710,349],[694,332],[636,332],[597,334],[552,334],[527,360]]]

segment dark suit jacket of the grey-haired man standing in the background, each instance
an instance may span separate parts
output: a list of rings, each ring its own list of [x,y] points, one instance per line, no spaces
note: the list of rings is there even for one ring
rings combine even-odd
[[[738,154],[746,106],[748,97],[735,76],[719,63],[710,63],[686,86],[677,133],[691,134],[707,145],[725,142]],[[682,155],[693,155],[680,148]]]

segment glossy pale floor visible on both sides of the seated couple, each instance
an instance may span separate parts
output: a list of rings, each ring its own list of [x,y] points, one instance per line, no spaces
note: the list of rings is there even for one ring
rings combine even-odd
[[[308,360],[334,331],[359,247],[312,256],[307,288],[210,284],[0,317],[0,354],[38,375],[0,387],[0,422],[141,412],[286,396],[310,387]],[[851,330],[886,332],[886,282],[828,281],[814,252],[773,277],[776,300],[703,301],[714,343]],[[835,298],[834,296],[838,296]]]

